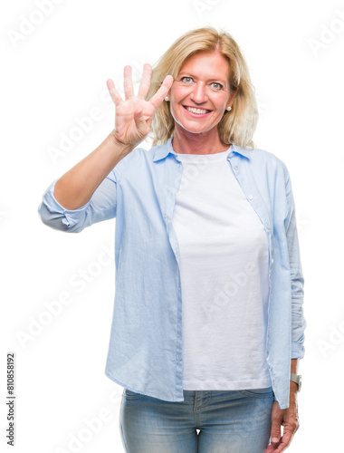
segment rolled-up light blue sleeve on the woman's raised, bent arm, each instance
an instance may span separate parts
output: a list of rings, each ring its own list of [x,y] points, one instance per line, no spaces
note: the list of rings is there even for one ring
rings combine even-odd
[[[53,196],[57,180],[45,190],[38,207],[43,224],[68,233],[80,233],[86,226],[116,217],[117,181],[114,169],[94,191],[90,201],[77,209],[65,209]]]

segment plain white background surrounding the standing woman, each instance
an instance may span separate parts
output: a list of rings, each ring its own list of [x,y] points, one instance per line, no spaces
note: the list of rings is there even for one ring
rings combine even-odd
[[[46,5],[41,16],[40,3]],[[10,450],[5,358],[14,351],[16,451],[123,451],[122,387],[104,374],[115,266],[101,247],[113,255],[115,219],[69,235],[44,226],[37,208],[53,179],[112,130],[106,80],[122,89],[125,64],[139,78],[142,64],[154,64],[180,34],[211,24],[233,35],[250,67],[260,105],[255,143],[282,159],[291,174],[308,325],[299,370],[301,428],[290,451],[339,451],[344,3],[17,0],[2,3],[1,17],[1,448]],[[31,29],[27,20],[35,23]],[[72,134],[93,108],[101,118],[52,159],[49,149],[59,149],[62,135]],[[107,265],[97,265],[101,257]],[[82,270],[99,274],[83,288],[73,286]],[[21,341],[19,335],[29,335],[47,304],[63,293],[70,304]],[[87,439],[87,420],[100,416],[98,432],[89,429]],[[72,450],[76,438],[83,440]]]

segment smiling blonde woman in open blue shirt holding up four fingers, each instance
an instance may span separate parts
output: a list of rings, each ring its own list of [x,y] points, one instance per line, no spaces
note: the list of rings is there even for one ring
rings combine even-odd
[[[153,74],[144,65],[137,96],[129,66],[124,101],[107,84],[115,129],[53,181],[39,213],[74,233],[116,217],[105,372],[124,387],[123,445],[282,452],[298,429],[304,281],[288,169],[253,145],[243,55],[201,28]],[[136,148],[149,130],[154,147]]]

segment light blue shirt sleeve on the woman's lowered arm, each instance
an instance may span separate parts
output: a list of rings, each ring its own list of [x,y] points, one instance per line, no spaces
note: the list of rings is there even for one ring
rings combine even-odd
[[[306,328],[306,321],[303,315],[304,278],[296,226],[295,204],[288,170],[286,170],[285,184],[288,214],[284,219],[284,226],[291,268],[291,359],[302,359],[304,356],[303,343]]]

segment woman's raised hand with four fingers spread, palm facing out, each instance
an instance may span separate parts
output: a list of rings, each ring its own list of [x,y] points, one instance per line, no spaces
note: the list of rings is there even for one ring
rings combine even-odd
[[[145,101],[150,87],[151,75],[152,68],[150,64],[144,64],[139,93],[138,96],[134,96],[131,67],[125,66],[125,101],[120,97],[112,80],[109,79],[107,81],[110,96],[116,105],[115,138],[123,144],[136,146],[145,139],[150,130],[154,113],[172,86],[173,77],[167,75],[158,92],[149,101]]]

